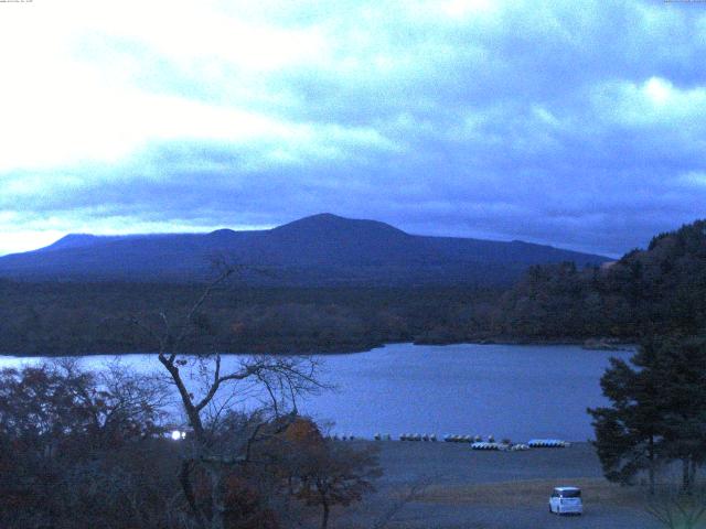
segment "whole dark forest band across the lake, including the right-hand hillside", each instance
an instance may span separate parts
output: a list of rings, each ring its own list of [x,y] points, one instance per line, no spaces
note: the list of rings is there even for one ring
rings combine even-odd
[[[462,284],[247,287],[235,277],[199,313],[185,352],[328,353],[385,343],[638,342],[704,334],[706,222],[657,235],[645,250],[579,268],[533,266],[507,289]],[[0,281],[0,352],[154,350],[136,317],[181,314],[203,284]]]

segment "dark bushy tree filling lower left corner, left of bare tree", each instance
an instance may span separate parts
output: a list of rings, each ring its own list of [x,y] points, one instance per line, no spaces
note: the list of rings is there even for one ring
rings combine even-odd
[[[0,373],[0,527],[173,527],[159,384],[74,363]]]

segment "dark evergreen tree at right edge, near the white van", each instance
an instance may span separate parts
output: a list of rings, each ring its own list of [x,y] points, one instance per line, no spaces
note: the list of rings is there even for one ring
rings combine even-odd
[[[629,484],[678,460],[689,490],[706,455],[706,346],[700,341],[651,338],[628,363],[612,358],[601,378],[610,407],[589,409],[606,477]]]

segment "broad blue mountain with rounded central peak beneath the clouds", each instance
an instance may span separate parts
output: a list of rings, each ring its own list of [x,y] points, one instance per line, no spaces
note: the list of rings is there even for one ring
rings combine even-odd
[[[214,259],[245,266],[269,284],[504,284],[531,264],[608,258],[522,241],[410,235],[388,224],[320,214],[274,229],[133,236],[67,235],[0,258],[0,277],[194,281]]]

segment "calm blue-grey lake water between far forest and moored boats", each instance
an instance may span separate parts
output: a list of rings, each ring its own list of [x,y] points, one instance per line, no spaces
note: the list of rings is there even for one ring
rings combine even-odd
[[[592,438],[586,408],[606,402],[599,379],[611,356],[628,358],[630,353],[578,346],[394,344],[327,355],[323,378],[338,389],[310,398],[300,409],[334,421],[333,432],[356,436],[450,433],[585,441]],[[95,368],[110,358],[82,361]],[[0,357],[0,367],[34,361]],[[161,367],[153,355],[127,355],[120,361],[140,370]]]

